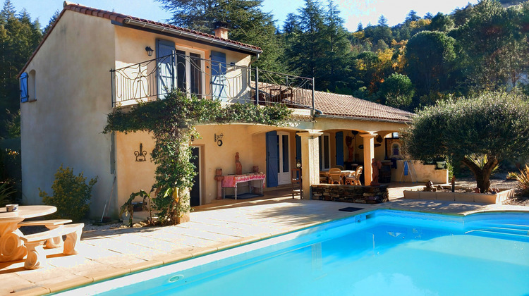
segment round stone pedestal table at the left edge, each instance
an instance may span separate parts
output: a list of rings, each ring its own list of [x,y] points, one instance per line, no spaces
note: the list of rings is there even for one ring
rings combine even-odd
[[[18,211],[0,208],[0,262],[23,259],[27,253],[24,243],[20,240],[23,233],[18,230],[18,223],[56,211],[55,206],[19,206]]]

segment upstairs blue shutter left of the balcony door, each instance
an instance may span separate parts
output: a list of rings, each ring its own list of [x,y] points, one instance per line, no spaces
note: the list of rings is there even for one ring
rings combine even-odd
[[[174,42],[157,39],[156,58],[158,75],[158,97],[164,98],[165,94],[174,89]]]

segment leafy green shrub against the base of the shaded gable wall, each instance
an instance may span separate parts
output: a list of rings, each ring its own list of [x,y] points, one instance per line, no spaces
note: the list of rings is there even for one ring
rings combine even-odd
[[[56,206],[57,211],[54,218],[68,218],[79,221],[86,217],[90,211],[90,198],[92,197],[92,187],[97,182],[97,176],[90,179],[88,184],[83,176],[73,175],[73,168],[59,168],[55,174],[55,181],[51,185],[54,194],[49,196],[39,188],[39,197],[42,202],[50,206]]]

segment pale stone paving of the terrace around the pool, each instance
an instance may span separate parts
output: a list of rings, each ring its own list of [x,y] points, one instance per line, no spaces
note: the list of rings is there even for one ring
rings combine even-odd
[[[198,257],[315,226],[362,211],[338,211],[354,206],[372,209],[399,209],[450,215],[482,211],[526,211],[527,206],[475,204],[403,199],[400,185],[389,190],[390,201],[383,204],[349,204],[310,199],[292,199],[290,191],[268,193],[268,199],[222,200],[200,206],[191,221],[177,226],[85,230],[79,254],[66,256],[61,249],[44,249],[47,264],[26,270],[24,261],[0,262],[0,295],[43,295],[98,280],[122,276]]]

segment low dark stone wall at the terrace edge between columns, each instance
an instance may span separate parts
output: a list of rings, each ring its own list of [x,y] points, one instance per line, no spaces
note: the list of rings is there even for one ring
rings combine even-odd
[[[320,184],[312,185],[312,199],[334,202],[356,202],[360,204],[379,204],[387,202],[389,193],[387,185],[353,186]]]

